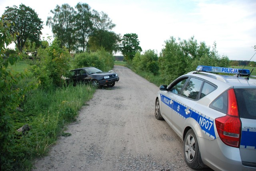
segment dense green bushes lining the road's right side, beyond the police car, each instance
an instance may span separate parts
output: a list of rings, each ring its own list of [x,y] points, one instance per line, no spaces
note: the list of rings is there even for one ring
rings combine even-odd
[[[218,55],[216,43],[210,48],[205,42],[198,43],[194,37],[188,40],[179,38],[178,41],[170,37],[165,41],[160,57],[154,50],[147,50],[144,54],[136,53],[132,60],[135,71],[158,75],[162,84],[169,84],[177,77],[194,71],[198,65],[228,67],[229,59]]]

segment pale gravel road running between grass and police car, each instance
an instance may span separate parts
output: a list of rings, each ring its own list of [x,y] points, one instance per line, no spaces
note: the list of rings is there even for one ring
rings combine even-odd
[[[193,170],[184,161],[183,142],[154,117],[159,88],[126,67],[113,70],[120,81],[96,90],[68,126],[72,135],[60,137],[34,171]]]

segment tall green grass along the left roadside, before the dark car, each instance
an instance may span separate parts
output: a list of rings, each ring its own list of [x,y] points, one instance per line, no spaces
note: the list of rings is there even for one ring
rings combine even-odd
[[[48,90],[36,89],[26,95],[14,111],[12,119],[17,130],[24,124],[31,128],[26,134],[15,132],[12,153],[1,156],[4,170],[30,170],[34,157],[46,155],[49,147],[62,135],[67,123],[76,120],[80,108],[92,98],[95,88],[80,84]]]

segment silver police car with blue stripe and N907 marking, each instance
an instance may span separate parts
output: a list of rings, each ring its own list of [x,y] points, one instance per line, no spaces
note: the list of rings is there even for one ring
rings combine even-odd
[[[160,86],[155,117],[183,140],[189,167],[256,170],[256,79],[249,76],[246,69],[198,66]]]

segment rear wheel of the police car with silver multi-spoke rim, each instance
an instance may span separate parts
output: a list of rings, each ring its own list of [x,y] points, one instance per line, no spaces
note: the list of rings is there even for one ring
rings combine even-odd
[[[200,169],[202,166],[199,164],[199,147],[196,135],[192,129],[188,130],[184,139],[184,158],[189,167],[192,169]]]

